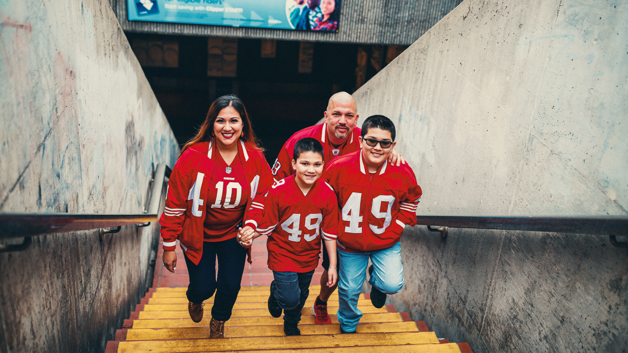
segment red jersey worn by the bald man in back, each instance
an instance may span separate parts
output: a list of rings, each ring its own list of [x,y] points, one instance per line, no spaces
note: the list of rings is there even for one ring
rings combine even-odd
[[[327,166],[333,158],[346,155],[347,153],[360,149],[360,140],[358,137],[361,133],[362,129],[355,127],[353,131],[351,131],[351,134],[347,136],[345,142],[338,146],[338,148],[335,148],[327,138],[327,124],[325,122],[323,122],[323,124],[310,126],[309,128],[297,131],[279,150],[279,155],[277,156],[274,165],[271,167],[271,173],[273,173],[275,180],[281,180],[286,178],[286,176],[294,175],[296,173],[296,171],[292,168],[291,162],[292,156],[295,152],[296,141],[299,141],[299,139],[315,138],[323,145],[323,151],[325,151],[325,155],[323,155],[323,161],[325,161],[324,168],[327,169]],[[323,174],[325,174],[325,169],[323,169]]]

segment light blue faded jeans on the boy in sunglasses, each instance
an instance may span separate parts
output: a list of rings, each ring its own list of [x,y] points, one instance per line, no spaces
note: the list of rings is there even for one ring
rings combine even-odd
[[[365,253],[347,253],[338,249],[340,274],[338,274],[338,322],[345,332],[355,331],[362,318],[357,308],[357,300],[362,293],[362,284],[366,280],[369,258],[373,264],[373,274],[369,285],[386,294],[399,293],[403,288],[403,264],[401,264],[401,243],[397,242],[387,249]]]

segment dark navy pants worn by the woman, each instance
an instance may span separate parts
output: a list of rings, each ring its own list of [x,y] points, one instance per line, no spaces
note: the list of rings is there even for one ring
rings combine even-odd
[[[202,303],[216,293],[212,306],[212,317],[219,321],[231,318],[231,311],[240,291],[246,249],[236,238],[225,241],[203,241],[203,255],[194,264],[185,253],[190,285],[187,297],[192,303]],[[216,258],[218,258],[218,279],[216,279]]]

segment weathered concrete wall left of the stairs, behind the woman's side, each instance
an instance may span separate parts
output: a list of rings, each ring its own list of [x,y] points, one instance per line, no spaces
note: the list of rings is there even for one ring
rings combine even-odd
[[[138,213],[178,145],[107,1],[0,1],[0,212]],[[0,254],[0,352],[102,352],[158,225]]]

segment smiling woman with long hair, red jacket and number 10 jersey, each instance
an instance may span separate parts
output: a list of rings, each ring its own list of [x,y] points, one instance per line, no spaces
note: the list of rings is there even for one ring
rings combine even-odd
[[[183,249],[190,276],[188,312],[194,322],[203,318],[203,301],[216,293],[212,338],[224,337],[247,253],[251,262],[250,251],[237,241],[242,219],[252,198],[272,183],[242,100],[235,95],[219,97],[196,136],[181,149],[160,219],[163,263],[169,271],[176,269],[177,240]]]

